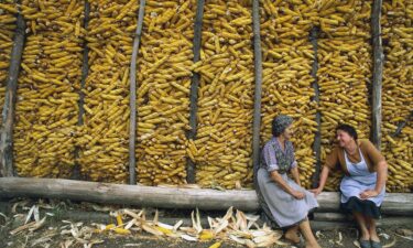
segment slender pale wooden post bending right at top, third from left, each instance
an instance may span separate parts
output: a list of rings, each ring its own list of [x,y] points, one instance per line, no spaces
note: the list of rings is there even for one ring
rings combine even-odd
[[[138,13],[137,32],[133,40],[132,60],[130,64],[130,125],[129,125],[129,184],[137,184],[135,137],[137,137],[137,58],[142,35],[143,17],[146,0],[141,0]]]

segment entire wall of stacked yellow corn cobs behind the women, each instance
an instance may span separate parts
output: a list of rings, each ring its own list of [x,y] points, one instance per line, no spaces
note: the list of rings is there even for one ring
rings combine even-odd
[[[139,0],[89,2],[87,30],[83,29],[83,0],[22,2],[28,40],[14,128],[14,158],[20,175],[68,177],[77,161],[87,180],[127,182],[129,65]],[[311,187],[315,171],[312,144],[317,109],[323,116],[323,161],[332,149],[338,122],[356,126],[360,138],[369,137],[371,4],[361,0],[260,1],[261,142],[271,137],[274,116],[294,117],[293,142],[306,187]],[[8,24],[1,26],[0,39],[6,39],[9,43],[3,46],[11,48],[15,26],[11,24],[13,17],[4,13],[14,12],[1,7],[1,22]],[[189,158],[197,165],[196,183],[202,186],[252,186],[251,9],[251,1],[206,1],[202,60],[193,64],[196,1],[146,1],[137,69],[138,183],[185,184]],[[391,134],[411,111],[412,4],[384,1],[382,14],[387,55],[382,149],[391,171],[388,190],[404,192],[413,184],[412,128],[407,125],[396,138]],[[311,76],[315,55],[308,33],[313,26],[320,30],[319,105],[313,100]],[[76,127],[84,39],[89,48],[85,123]],[[4,72],[9,63],[6,56],[0,60]],[[187,140],[193,72],[200,74],[198,127],[196,139]],[[80,151],[78,158],[76,147]],[[326,188],[335,191],[338,183],[339,175],[334,174]]]

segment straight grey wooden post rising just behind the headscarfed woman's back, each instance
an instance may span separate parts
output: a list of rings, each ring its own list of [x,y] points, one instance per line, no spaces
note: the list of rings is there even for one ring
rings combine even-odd
[[[252,25],[253,25],[253,55],[254,55],[254,103],[252,123],[252,163],[258,168],[260,163],[260,127],[261,127],[261,84],[262,84],[262,54],[260,36],[260,3],[252,1]]]

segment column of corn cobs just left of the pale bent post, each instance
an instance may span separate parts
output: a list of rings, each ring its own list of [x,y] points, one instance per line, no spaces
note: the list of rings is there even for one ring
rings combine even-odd
[[[81,172],[91,181],[126,183],[128,176],[129,67],[138,8],[138,0],[90,1],[85,125],[77,144]]]

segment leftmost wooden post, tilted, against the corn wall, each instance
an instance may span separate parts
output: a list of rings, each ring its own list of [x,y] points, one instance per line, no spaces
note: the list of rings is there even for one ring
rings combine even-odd
[[[4,106],[2,109],[3,122],[1,123],[0,140],[0,175],[13,176],[13,123],[14,106],[18,91],[18,78],[20,63],[23,54],[25,23],[20,12],[17,14],[18,28],[15,30],[13,48],[11,51],[11,63],[7,79]]]

